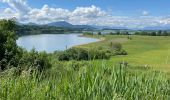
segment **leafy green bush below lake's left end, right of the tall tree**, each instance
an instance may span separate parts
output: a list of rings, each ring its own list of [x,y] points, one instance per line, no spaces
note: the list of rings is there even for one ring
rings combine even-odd
[[[43,71],[51,67],[48,55],[45,52],[38,53],[34,49],[30,52],[24,51],[22,58],[19,61],[18,67],[20,70],[30,71],[38,70]]]

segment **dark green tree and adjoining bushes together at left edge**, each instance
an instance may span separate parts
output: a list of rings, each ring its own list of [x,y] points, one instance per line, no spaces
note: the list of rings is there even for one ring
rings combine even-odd
[[[14,20],[0,20],[0,71],[14,67],[20,71],[50,67],[46,53],[27,52],[17,46],[16,27]]]

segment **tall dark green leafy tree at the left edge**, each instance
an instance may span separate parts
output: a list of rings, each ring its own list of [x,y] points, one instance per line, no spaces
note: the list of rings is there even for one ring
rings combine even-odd
[[[17,66],[20,48],[16,44],[17,36],[15,20],[0,20],[0,67]]]

